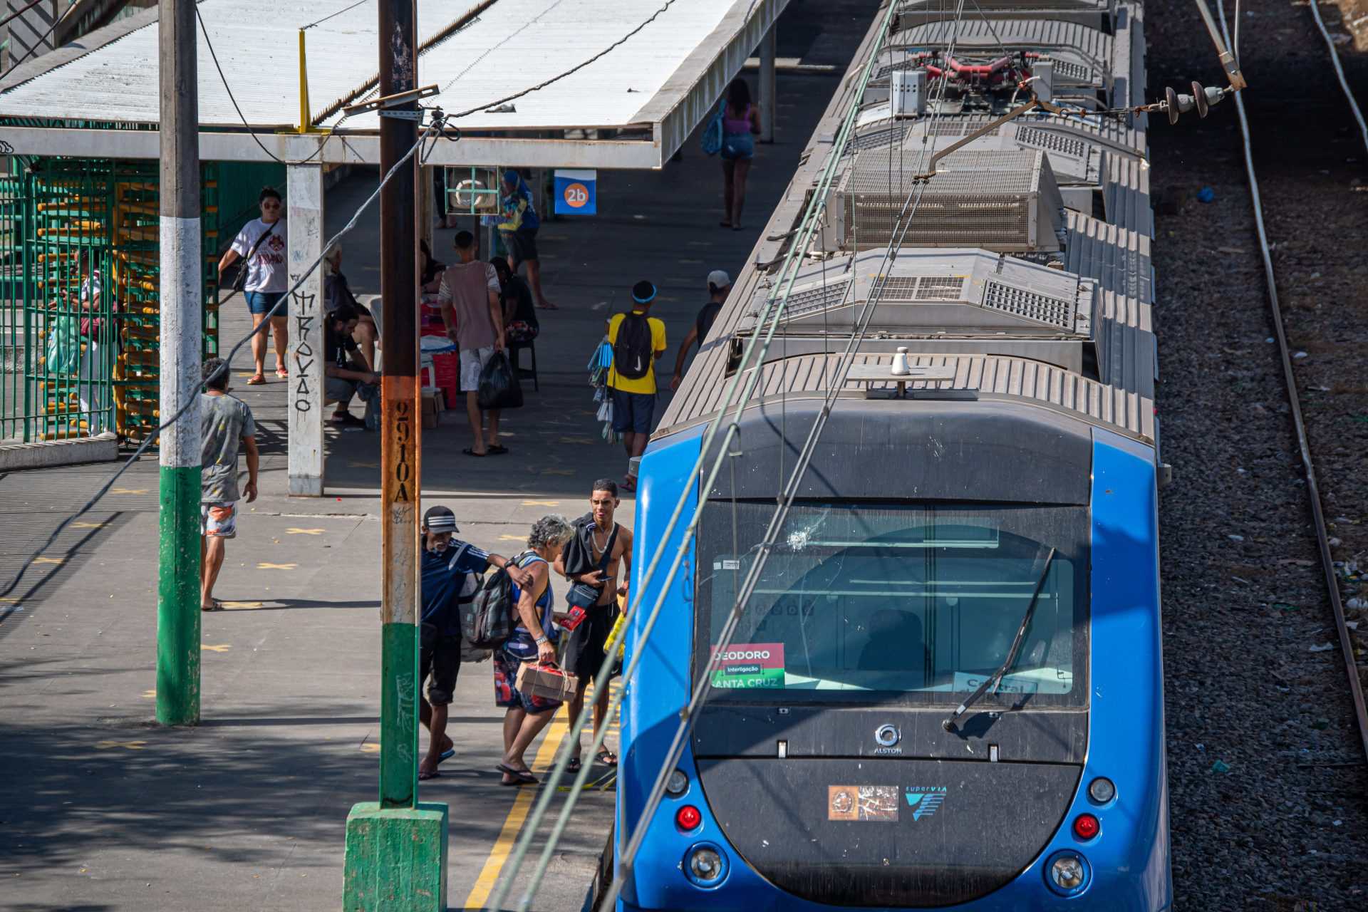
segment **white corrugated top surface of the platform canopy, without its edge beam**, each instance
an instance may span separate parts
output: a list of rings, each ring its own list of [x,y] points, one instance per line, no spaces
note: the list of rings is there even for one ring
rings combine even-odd
[[[259,127],[297,124],[300,27],[345,10],[347,0],[202,0],[201,16],[233,94]],[[420,45],[466,19],[476,0],[417,5]],[[464,129],[628,126],[659,96],[688,85],[670,78],[700,48],[735,36],[751,0],[680,0],[651,25],[546,89],[518,98],[512,113],[476,113]],[[774,5],[774,4],[769,4]],[[782,5],[782,4],[780,4]],[[658,8],[653,0],[498,0],[419,59],[419,83],[443,94],[424,104],[472,108],[542,82],[586,62]],[[735,14],[731,15],[729,14]],[[757,12],[758,15],[758,12]],[[345,10],[306,31],[311,119],[364,90],[378,67],[376,3]],[[44,72],[0,96],[0,116],[157,123],[157,25],[152,23]],[[241,126],[198,34],[200,123]],[[714,49],[715,53],[715,49]],[[347,120],[375,129],[378,118]]]

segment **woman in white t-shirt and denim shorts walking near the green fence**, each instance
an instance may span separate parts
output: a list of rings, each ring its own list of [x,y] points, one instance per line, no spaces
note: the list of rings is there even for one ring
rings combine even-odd
[[[253,328],[260,325],[267,313],[271,313],[280,298],[285,297],[289,283],[289,241],[286,238],[285,205],[275,187],[263,187],[257,197],[261,206],[261,217],[253,219],[242,226],[233,246],[228,247],[223,258],[219,260],[219,283],[223,283],[223,271],[238,260],[248,257],[248,280],[242,286],[246,294],[248,310],[252,312]],[[248,256],[250,254],[250,256]],[[282,380],[290,376],[286,369],[286,314],[287,305],[280,306],[271,316],[271,334],[275,336],[275,376]],[[259,332],[252,336],[252,360],[256,361],[256,372],[248,380],[248,386],[265,383],[265,334]]]

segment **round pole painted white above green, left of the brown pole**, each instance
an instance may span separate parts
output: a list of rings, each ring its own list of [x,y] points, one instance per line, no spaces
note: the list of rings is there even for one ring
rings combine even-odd
[[[194,0],[161,0],[161,548],[157,722],[200,721],[200,149]]]

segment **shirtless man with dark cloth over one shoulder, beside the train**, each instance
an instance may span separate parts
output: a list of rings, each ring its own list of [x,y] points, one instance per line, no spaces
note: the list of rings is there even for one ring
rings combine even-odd
[[[565,643],[562,656],[565,670],[579,678],[579,689],[575,699],[566,704],[570,716],[570,727],[580,718],[584,710],[584,689],[588,686],[603,665],[606,655],[603,647],[607,645],[609,630],[617,619],[617,596],[627,595],[628,577],[632,574],[632,531],[620,526],[613,521],[613,511],[621,500],[617,496],[617,483],[611,479],[599,479],[594,483],[590,494],[590,513],[575,522],[575,533],[586,537],[586,544],[591,544],[591,555],[595,569],[590,573],[566,576],[562,558],[555,559],[555,572],[565,576],[570,582],[584,582],[594,587],[603,587],[599,591],[598,602],[594,603],[577,628],[570,630]],[[603,559],[603,551],[610,547],[607,566],[603,570],[598,565]],[[618,563],[622,573],[618,576]],[[607,722],[609,689],[603,688],[594,695],[594,734]],[[579,745],[576,745],[579,748]],[[595,757],[605,766],[617,766],[617,755],[607,749],[605,744]],[[570,760],[569,771],[580,768],[579,749]]]

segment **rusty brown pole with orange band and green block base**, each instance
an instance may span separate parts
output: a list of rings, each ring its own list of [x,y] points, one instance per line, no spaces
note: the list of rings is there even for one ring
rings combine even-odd
[[[417,88],[417,15],[413,0],[379,7],[386,97]],[[380,111],[382,175],[417,144],[417,112],[416,100]],[[347,816],[346,912],[446,909],[447,807],[417,800],[419,167],[410,159],[380,190],[380,800]]]

